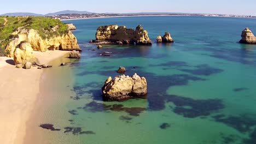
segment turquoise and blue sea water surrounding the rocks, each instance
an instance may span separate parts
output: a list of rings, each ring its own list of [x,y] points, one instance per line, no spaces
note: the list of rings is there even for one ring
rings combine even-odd
[[[62,129],[39,129],[58,135],[54,143],[63,143],[61,137],[90,144],[256,142],[256,45],[237,43],[245,27],[256,32],[256,20],[122,17],[68,22],[77,27],[73,33],[83,52],[80,61],[67,66],[73,87],[58,85],[71,90],[63,94],[68,98],[64,104],[57,103],[67,111],[68,118],[61,120],[66,123],[47,117],[40,121]],[[168,31],[175,43],[104,45],[101,50],[88,44],[98,26],[115,23],[132,28],[141,24],[153,41]],[[114,54],[99,55],[106,51]],[[126,67],[127,75],[146,77],[147,99],[102,101],[104,81],[118,75],[120,66]],[[50,111],[56,111],[54,106]],[[64,133],[65,127],[71,128]]]

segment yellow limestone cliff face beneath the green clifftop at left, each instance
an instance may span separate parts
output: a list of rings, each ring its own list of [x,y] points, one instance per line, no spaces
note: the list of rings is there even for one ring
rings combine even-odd
[[[5,47],[5,52],[8,53],[8,57],[14,56],[15,48],[22,41],[30,43],[34,51],[45,52],[48,50],[81,50],[77,43],[77,38],[75,38],[71,31],[68,31],[66,34],[61,36],[54,36],[49,39],[43,39],[34,29],[18,28],[11,35],[13,35],[13,38],[10,39],[9,44]]]

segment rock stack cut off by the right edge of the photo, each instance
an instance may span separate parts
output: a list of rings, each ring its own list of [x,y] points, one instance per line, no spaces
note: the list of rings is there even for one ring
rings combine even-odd
[[[239,43],[256,44],[256,37],[249,28],[246,28],[242,31],[241,37],[242,39],[239,41]]]

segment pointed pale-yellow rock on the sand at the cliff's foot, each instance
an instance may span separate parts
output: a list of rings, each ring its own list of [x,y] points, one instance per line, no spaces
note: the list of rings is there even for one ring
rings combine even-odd
[[[33,49],[30,43],[21,42],[14,51],[14,63],[24,65],[26,62],[31,62],[33,65],[40,64],[39,60],[34,56]]]

